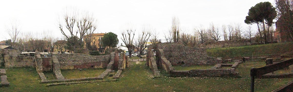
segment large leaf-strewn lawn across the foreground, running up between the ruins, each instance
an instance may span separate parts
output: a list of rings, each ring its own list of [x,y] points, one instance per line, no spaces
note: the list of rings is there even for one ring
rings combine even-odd
[[[54,91],[54,92],[92,92],[92,91],[192,91],[192,92],[247,92],[250,91],[250,68],[262,67],[264,62],[246,62],[240,64],[236,71],[239,71],[240,78],[233,77],[160,77],[152,78],[149,67],[145,62],[131,62],[131,67],[124,70],[122,77],[113,82],[97,82],[71,85],[58,85],[47,87],[40,83],[38,73],[34,68],[13,68],[6,71],[9,87],[1,87],[0,91]],[[73,70],[74,71],[74,70]],[[93,70],[97,71],[97,70]],[[78,72],[78,71],[76,71]],[[71,72],[73,73],[73,72]],[[88,72],[89,73],[89,72]],[[62,73],[65,75],[64,73]],[[86,73],[79,73],[83,75]],[[109,77],[108,77],[109,78]],[[106,78],[105,80],[107,80]],[[293,78],[255,79],[255,91],[272,91]]]

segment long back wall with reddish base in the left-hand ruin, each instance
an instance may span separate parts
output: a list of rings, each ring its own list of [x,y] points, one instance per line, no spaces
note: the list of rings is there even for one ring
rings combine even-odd
[[[53,57],[58,59],[61,69],[106,68],[110,62],[110,55],[53,54]]]

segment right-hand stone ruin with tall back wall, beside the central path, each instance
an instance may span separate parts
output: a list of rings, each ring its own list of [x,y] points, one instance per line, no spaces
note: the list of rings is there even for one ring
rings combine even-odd
[[[156,58],[152,56],[152,49],[156,52]],[[231,65],[230,69],[195,69],[189,71],[177,71],[173,65],[215,65],[222,63],[221,59],[208,57],[205,48],[191,48],[181,43],[158,43],[148,46],[147,65],[151,68],[154,76],[159,75],[158,67],[163,68],[171,76],[207,76],[207,77],[239,77],[234,71],[236,66]],[[230,65],[229,65],[230,66]],[[234,68],[232,68],[232,66]]]

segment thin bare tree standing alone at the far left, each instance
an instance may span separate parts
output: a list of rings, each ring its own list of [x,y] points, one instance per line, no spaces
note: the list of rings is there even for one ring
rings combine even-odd
[[[20,32],[19,23],[17,20],[10,20],[10,25],[6,26],[6,32],[11,38],[12,47],[15,47],[16,40],[18,39],[18,34]]]

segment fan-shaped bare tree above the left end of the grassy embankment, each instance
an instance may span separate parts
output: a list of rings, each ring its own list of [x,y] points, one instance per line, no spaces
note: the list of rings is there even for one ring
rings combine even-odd
[[[208,32],[215,41],[219,41],[221,37],[219,26],[214,26],[213,23],[209,24]]]

